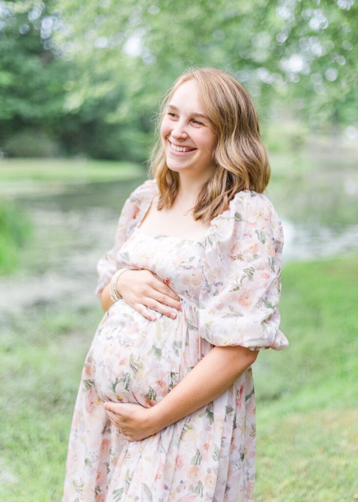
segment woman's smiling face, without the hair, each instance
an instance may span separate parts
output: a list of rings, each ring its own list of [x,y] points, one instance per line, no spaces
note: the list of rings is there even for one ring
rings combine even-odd
[[[216,138],[199,103],[195,80],[187,80],[174,92],[161,123],[160,135],[169,169],[205,177],[213,171]]]

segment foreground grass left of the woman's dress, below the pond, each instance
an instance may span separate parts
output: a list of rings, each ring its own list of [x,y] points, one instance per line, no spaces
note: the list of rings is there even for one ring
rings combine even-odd
[[[44,306],[2,330],[0,500],[61,500],[80,368],[101,315]]]

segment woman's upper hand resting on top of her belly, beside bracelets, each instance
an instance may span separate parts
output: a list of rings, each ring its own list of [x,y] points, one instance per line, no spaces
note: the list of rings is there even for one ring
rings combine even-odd
[[[179,296],[150,270],[126,270],[118,278],[117,291],[128,305],[151,321],[157,318],[147,307],[172,319],[177,315],[175,309],[182,310]]]

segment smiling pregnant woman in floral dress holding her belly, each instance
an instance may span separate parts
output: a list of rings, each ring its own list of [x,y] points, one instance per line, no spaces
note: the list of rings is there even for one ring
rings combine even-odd
[[[64,502],[249,502],[258,351],[279,330],[283,234],[247,91],[187,70],[159,115],[153,179],[98,264],[106,311],[73,416]]]

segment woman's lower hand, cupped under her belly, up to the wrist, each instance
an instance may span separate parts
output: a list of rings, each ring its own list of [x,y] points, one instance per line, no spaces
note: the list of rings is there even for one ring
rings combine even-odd
[[[112,424],[127,441],[140,441],[158,432],[152,421],[151,408],[112,401],[107,401],[103,407]]]

